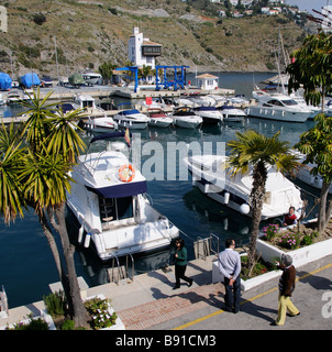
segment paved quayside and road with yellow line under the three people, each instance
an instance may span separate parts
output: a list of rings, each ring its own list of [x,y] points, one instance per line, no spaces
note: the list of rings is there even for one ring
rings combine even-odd
[[[103,294],[123,321],[126,330],[331,330],[332,329],[332,256],[297,267],[297,286],[291,298],[299,317],[287,317],[284,327],[273,327],[278,307],[278,277],[242,294],[241,310],[223,311],[224,288],[212,284],[212,260],[188,263],[186,275],[195,283],[182,283],[173,290],[174,266],[130,279],[86,288],[82,298]],[[84,284],[81,284],[84,286]],[[16,322],[29,309],[42,309],[42,302],[10,310]],[[0,324],[5,324],[0,319]]]

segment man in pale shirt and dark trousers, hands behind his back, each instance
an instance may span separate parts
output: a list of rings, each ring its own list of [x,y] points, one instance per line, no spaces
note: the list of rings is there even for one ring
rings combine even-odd
[[[235,241],[226,239],[225,250],[219,253],[218,267],[219,272],[224,276],[225,310],[236,314],[240,310],[241,298],[241,258],[240,254],[234,251],[234,249]]]

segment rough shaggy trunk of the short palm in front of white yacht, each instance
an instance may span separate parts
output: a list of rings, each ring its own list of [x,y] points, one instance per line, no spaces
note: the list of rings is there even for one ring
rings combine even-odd
[[[258,162],[253,172],[253,189],[251,193],[252,209],[252,233],[247,253],[247,264],[250,273],[255,265],[256,242],[259,233],[259,223],[262,217],[263,198],[265,195],[265,184],[267,179],[267,170],[263,162]]]

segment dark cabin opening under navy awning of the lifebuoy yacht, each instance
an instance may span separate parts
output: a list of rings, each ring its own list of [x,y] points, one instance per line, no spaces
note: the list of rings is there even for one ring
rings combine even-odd
[[[100,216],[103,222],[134,217],[133,197],[99,198]]]

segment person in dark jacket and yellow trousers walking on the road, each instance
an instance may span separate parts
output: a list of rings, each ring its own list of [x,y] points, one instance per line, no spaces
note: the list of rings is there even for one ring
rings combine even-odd
[[[277,263],[279,264],[279,263]],[[283,326],[286,319],[286,311],[290,314],[291,317],[298,316],[300,312],[296,306],[290,300],[291,294],[295,289],[295,278],[296,270],[292,264],[292,258],[289,254],[281,256],[281,264],[279,265],[283,271],[283,275],[279,279],[279,306],[278,306],[278,317],[276,321],[272,324]]]

